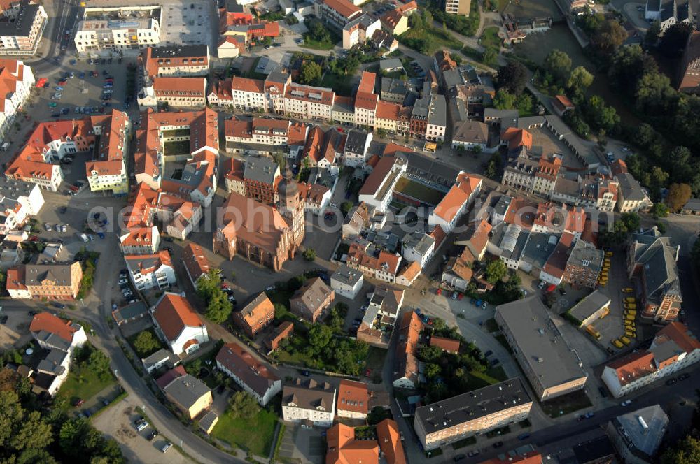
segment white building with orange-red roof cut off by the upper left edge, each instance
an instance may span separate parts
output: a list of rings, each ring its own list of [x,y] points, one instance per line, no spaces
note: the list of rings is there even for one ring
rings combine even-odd
[[[2,24],[5,23],[0,22],[0,34]],[[0,52],[4,51],[0,48]],[[31,87],[34,86],[34,73],[22,61],[0,59],[0,86],[0,138],[3,139],[15,121],[18,110],[29,98]]]

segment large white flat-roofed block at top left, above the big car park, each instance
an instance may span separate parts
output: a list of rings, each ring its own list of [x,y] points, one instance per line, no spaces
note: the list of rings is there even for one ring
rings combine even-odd
[[[118,19],[103,20],[104,15]],[[141,48],[160,43],[162,6],[122,6],[85,8],[77,27],[78,53],[100,50]]]

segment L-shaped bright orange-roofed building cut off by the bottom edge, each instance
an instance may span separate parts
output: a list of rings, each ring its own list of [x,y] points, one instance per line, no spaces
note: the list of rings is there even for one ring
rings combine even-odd
[[[337,423],[325,438],[325,464],[379,464],[379,445],[374,440],[356,440],[355,428]]]

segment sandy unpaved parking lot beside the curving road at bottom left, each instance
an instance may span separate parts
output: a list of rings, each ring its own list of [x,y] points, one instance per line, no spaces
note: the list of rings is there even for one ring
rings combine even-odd
[[[174,447],[167,451],[166,459],[160,449],[167,443],[167,439],[158,435],[153,440],[148,441],[147,437],[153,431],[151,426],[141,430],[141,432],[137,430],[134,425],[134,421],[139,418],[139,414],[136,412],[137,406],[140,405],[135,405],[132,399],[127,396],[120,403],[113,405],[92,419],[92,425],[107,437],[117,440],[124,457],[130,463],[162,463],[165,461],[169,464],[189,463],[190,460],[181,455]],[[148,414],[148,409],[146,414]]]

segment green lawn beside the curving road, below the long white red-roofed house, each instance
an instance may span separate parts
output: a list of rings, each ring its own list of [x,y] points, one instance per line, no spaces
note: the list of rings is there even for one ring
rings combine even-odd
[[[211,435],[218,440],[267,458],[274,440],[276,423],[276,414],[266,409],[260,409],[260,412],[251,419],[233,419],[229,414],[222,414]]]

